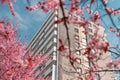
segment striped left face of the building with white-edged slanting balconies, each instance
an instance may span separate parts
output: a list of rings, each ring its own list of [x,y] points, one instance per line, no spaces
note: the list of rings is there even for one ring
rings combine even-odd
[[[57,26],[53,23],[55,21],[55,14],[53,12],[47,17],[38,32],[30,41],[26,51],[35,50],[31,56],[35,56],[41,52],[46,56],[52,56],[44,65],[38,66],[35,77],[41,75],[42,77],[49,76],[51,80],[55,80],[56,74],[56,54],[57,54]]]

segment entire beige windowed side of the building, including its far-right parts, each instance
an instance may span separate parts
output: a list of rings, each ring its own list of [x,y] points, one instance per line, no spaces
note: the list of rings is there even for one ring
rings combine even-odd
[[[59,10],[59,17],[63,17],[61,14],[61,11]],[[65,10],[65,15],[67,14],[67,11]],[[75,17],[78,17],[76,15],[73,15]],[[70,59],[66,57],[66,55],[69,55],[69,52],[60,52],[59,53],[59,70],[58,70],[58,80],[84,80],[84,75],[79,76],[89,68],[89,61],[85,55],[83,55],[84,48],[86,47],[87,41],[91,36],[94,36],[94,32],[96,30],[96,25],[92,22],[89,22],[87,31],[88,34],[85,35],[83,31],[85,29],[82,26],[75,25],[72,23],[67,23],[68,26],[68,32],[70,37],[70,47],[72,51],[72,55],[74,55],[76,58],[78,58],[78,62],[74,63],[74,68],[70,63]],[[104,28],[99,26],[99,32],[101,36],[103,36],[104,40],[106,40],[106,35],[104,33]],[[67,39],[67,33],[66,28],[64,26],[64,23],[59,24],[59,38],[63,41],[64,45],[68,47],[68,39]],[[79,51],[80,52],[79,52]],[[101,56],[101,59],[96,62],[98,66],[103,67],[103,69],[109,69],[106,67],[106,63],[110,61],[110,53],[103,53],[104,55]],[[77,73],[78,72],[78,73]],[[114,78],[114,72],[98,72],[96,74],[99,74],[101,78],[98,78],[98,80],[115,80]]]

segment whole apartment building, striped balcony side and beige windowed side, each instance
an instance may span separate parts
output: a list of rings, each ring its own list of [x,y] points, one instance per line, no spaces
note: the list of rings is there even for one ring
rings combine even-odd
[[[65,10],[65,14],[68,15],[67,10]],[[83,30],[85,30],[83,27],[72,23],[67,24],[71,54],[77,58],[73,67],[69,57],[67,57],[69,56],[69,52],[67,50],[62,52],[58,50],[61,45],[59,39],[61,39],[64,46],[68,48],[68,37],[63,23],[54,24],[54,21],[57,20],[56,16],[62,17],[61,10],[49,14],[28,45],[27,51],[35,49],[35,52],[32,53],[31,56],[38,54],[40,51],[46,56],[52,56],[43,66],[38,65],[34,68],[35,70],[39,67],[35,73],[35,77],[42,73],[43,78],[49,76],[50,80],[84,80],[84,75],[80,75],[84,74],[86,69],[88,69],[89,61],[86,56],[82,54],[84,51],[82,49],[86,47],[87,40],[93,35],[96,25],[92,22],[89,23],[88,35],[86,36],[83,33]],[[72,16],[79,17],[76,15]],[[105,35],[104,28],[100,28],[100,34]],[[110,55],[105,54],[103,58],[105,59],[99,61],[98,64],[105,66],[104,63],[110,60]],[[101,72],[98,73],[97,76],[98,80],[114,80],[113,72]],[[101,76],[102,79],[99,78]]]

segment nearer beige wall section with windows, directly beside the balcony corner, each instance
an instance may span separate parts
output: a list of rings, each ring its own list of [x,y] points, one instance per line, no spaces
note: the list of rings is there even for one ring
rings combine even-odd
[[[61,11],[58,12],[59,17],[62,17]],[[65,11],[67,15],[67,11]],[[77,62],[74,62],[74,68],[70,63],[70,59],[66,56],[69,55],[69,52],[60,52],[59,53],[59,70],[58,70],[58,80],[80,80],[84,76],[80,76],[85,72],[85,69],[89,67],[87,58],[81,53],[81,47],[86,46],[86,35],[82,33],[84,28],[79,25],[74,25],[68,23],[68,32],[70,37],[70,48],[72,51],[72,56],[77,59]],[[59,38],[63,41],[64,45],[68,48],[68,39],[64,23],[59,24]],[[82,43],[83,42],[83,43]],[[82,80],[81,79],[81,80]]]

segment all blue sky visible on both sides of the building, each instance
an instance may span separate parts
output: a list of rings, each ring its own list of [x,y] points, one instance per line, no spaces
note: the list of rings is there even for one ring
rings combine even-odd
[[[37,29],[40,27],[44,19],[47,17],[48,13],[44,13],[41,10],[37,11],[27,11],[25,10],[25,7],[28,6],[27,0],[16,0],[16,2],[13,3],[13,6],[16,11],[16,16],[12,16],[10,13],[10,10],[8,9],[8,6],[0,5],[0,20],[3,18],[12,19],[13,23],[18,22],[19,28],[18,28],[18,34],[21,36],[22,40],[26,36],[28,39],[28,42],[33,37],[34,33],[37,31]],[[39,0],[30,0],[31,5],[36,4]],[[119,0],[108,0],[107,6],[114,7],[115,9],[120,7]],[[67,2],[68,3],[68,2]],[[104,12],[101,11],[103,14]],[[114,21],[116,25],[119,27],[120,23],[118,22],[118,16],[114,17]],[[110,33],[108,31],[108,28],[112,26],[109,18],[105,16],[103,19],[106,23],[106,26],[103,24],[103,26],[106,29],[107,32],[107,39],[115,45],[116,42],[118,42],[118,39],[115,38],[115,34]],[[22,41],[21,40],[21,41]]]

